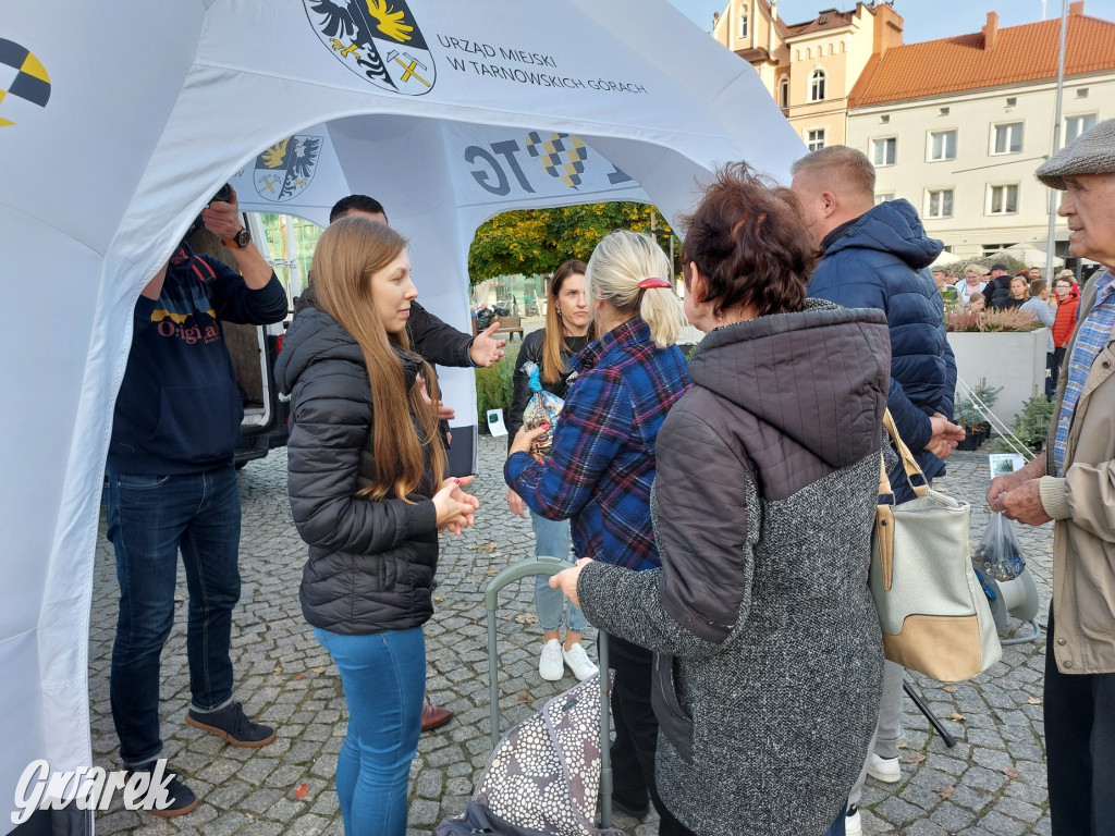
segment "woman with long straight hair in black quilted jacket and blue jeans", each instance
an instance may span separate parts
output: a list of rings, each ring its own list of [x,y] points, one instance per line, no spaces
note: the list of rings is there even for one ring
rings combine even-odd
[[[291,396],[289,488],[309,545],[302,613],[340,670],[349,709],[337,760],[347,836],[403,836],[418,747],[438,532],[473,524],[479,503],[445,479],[437,418],[409,350],[407,241],[346,217],[313,254],[314,300],[275,366]]]

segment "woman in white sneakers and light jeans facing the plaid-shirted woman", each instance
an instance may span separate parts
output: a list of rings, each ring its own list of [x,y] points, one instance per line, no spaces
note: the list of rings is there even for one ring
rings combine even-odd
[[[561,409],[569,391],[570,360],[589,344],[589,302],[584,295],[584,262],[571,259],[554,271],[546,289],[546,325],[523,338],[523,347],[515,360],[515,392],[507,416],[507,447],[515,441],[518,428],[523,426],[523,414],[527,410],[536,420],[547,407]],[[533,367],[531,369],[530,367]],[[545,397],[545,392],[552,397]],[[526,505],[514,488],[507,489],[507,506],[513,513],[525,518]],[[531,512],[534,527],[535,556],[569,556],[569,521],[546,519],[537,512]],[[597,672],[584,648],[581,634],[584,632],[584,615],[573,604],[566,607],[565,596],[560,590],[550,589],[545,575],[539,575],[534,583],[534,607],[542,625],[542,654],[539,658],[539,675],[556,681],[564,673],[564,665],[578,680],[585,680]],[[562,616],[565,618],[565,641],[561,642]]]

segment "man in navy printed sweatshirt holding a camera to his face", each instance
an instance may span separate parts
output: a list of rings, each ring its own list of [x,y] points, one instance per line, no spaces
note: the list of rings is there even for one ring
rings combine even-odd
[[[231,249],[239,273],[183,241],[143,289],[108,448],[108,539],[120,606],[109,686],[120,758],[155,771],[162,757],[159,657],[174,622],[178,552],[190,593],[186,722],[233,746],[258,747],[274,730],[232,699],[232,611],[240,599],[240,487],[233,450],[243,404],[222,321],[279,322],[287,294],[240,221],[236,193],[201,215]],[[197,806],[174,775],[166,809]]]

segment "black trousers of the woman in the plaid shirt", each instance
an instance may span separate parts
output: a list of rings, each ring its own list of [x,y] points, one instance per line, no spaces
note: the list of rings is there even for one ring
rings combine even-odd
[[[628,809],[640,809],[649,797],[658,816],[659,836],[692,836],[662,804],[655,785],[658,718],[650,704],[653,653],[614,635],[608,636],[612,687],[612,797]]]

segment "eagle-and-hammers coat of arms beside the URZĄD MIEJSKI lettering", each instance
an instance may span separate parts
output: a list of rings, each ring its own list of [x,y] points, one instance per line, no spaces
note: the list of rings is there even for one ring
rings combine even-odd
[[[358,76],[407,96],[433,89],[434,56],[404,0],[302,2],[318,39]]]

